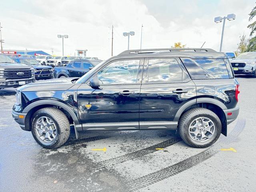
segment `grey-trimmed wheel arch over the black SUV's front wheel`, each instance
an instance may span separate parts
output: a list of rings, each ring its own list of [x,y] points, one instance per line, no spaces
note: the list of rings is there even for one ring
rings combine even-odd
[[[78,117],[76,116],[75,112],[66,104],[60,102],[60,101],[56,101],[56,100],[38,100],[35,102],[32,102],[31,104],[29,104],[26,108],[24,108],[23,113],[27,113],[26,117],[25,117],[25,129],[30,131],[31,128],[31,118],[33,116],[33,114],[42,108],[45,107],[55,107],[60,109],[62,112],[64,112],[64,114],[66,114],[70,124],[72,124],[73,122],[75,124],[80,124]]]

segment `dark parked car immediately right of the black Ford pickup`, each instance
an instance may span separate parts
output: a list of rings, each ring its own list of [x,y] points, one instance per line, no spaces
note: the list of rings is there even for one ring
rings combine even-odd
[[[29,65],[34,68],[35,78],[39,79],[52,79],[53,70],[51,66],[43,66],[38,63],[35,58],[13,58],[17,63]]]

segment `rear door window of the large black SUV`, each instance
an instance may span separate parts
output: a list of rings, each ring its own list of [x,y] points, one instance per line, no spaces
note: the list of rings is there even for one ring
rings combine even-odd
[[[182,70],[176,59],[149,59],[148,82],[182,82]]]

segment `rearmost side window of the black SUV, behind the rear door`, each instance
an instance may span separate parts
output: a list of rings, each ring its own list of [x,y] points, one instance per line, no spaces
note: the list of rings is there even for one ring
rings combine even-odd
[[[223,59],[194,59],[194,61],[200,64],[202,68],[206,69],[216,79],[229,78],[228,70]]]

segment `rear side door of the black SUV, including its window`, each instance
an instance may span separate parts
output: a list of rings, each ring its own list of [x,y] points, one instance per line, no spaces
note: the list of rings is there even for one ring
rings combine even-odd
[[[140,129],[176,129],[178,109],[196,86],[178,58],[146,58],[140,89]]]

